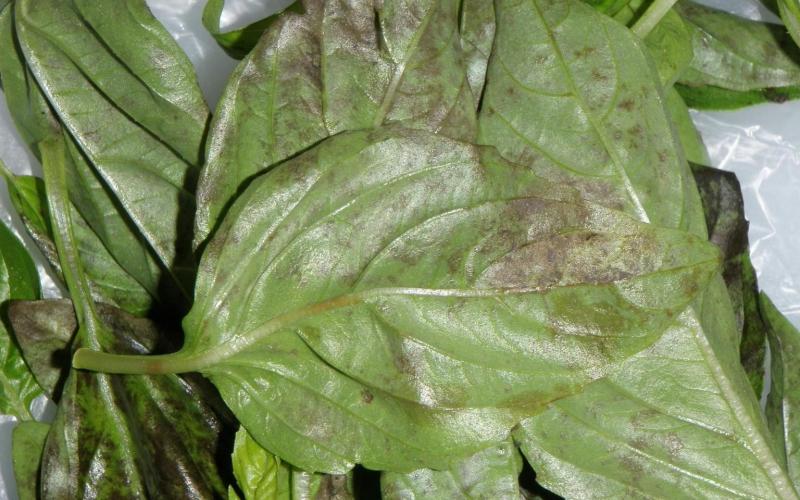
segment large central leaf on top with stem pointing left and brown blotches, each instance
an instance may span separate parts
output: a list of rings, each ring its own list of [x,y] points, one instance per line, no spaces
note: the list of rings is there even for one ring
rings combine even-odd
[[[305,470],[447,468],[650,345],[718,258],[493,148],[339,134],[240,196],[206,248],[181,352],[75,364],[199,370]]]

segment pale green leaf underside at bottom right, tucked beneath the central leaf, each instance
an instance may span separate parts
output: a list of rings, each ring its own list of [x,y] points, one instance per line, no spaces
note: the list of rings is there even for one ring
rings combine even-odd
[[[515,438],[537,480],[566,497],[797,498],[735,395],[746,380],[722,373],[704,335],[683,316],[617,373],[524,422]]]

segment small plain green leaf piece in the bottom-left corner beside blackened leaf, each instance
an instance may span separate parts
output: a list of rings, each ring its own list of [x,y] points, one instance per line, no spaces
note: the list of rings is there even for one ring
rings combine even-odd
[[[11,438],[11,458],[14,464],[14,478],[17,480],[17,494],[20,500],[39,498],[39,472],[42,463],[42,450],[50,430],[48,424],[41,422],[20,422],[14,427]]]

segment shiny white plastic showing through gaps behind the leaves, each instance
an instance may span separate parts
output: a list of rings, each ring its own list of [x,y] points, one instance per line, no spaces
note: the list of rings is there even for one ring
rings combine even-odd
[[[229,0],[222,28],[242,26],[291,1]],[[755,0],[700,1],[743,17],[776,20]],[[236,61],[202,27],[205,0],[147,3],[197,67],[200,85],[213,109]],[[736,172],[742,183],[750,220],[750,253],[761,288],[800,327],[800,101],[736,112],[693,112],[693,117],[709,149],[712,166]],[[0,99],[0,158],[17,173],[41,174],[14,129],[4,99]],[[0,187],[0,218],[13,226],[37,257],[45,295],[61,295],[10,206],[5,187]],[[53,406],[43,399],[35,402],[33,410],[39,418],[52,418]],[[17,498],[11,464],[14,425],[13,417],[0,415],[0,500]]]

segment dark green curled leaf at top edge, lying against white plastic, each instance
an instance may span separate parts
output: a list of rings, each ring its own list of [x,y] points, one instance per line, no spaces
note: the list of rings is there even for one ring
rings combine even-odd
[[[203,9],[203,26],[205,26],[211,36],[214,37],[214,40],[217,41],[220,47],[234,59],[242,59],[249,54],[258,43],[264,31],[269,29],[269,27],[280,18],[281,12],[291,10],[293,12],[302,13],[303,11],[302,2],[296,0],[281,11],[252,24],[248,24],[244,28],[222,31],[220,21],[222,20],[222,11],[224,8],[225,0],[208,0]]]

